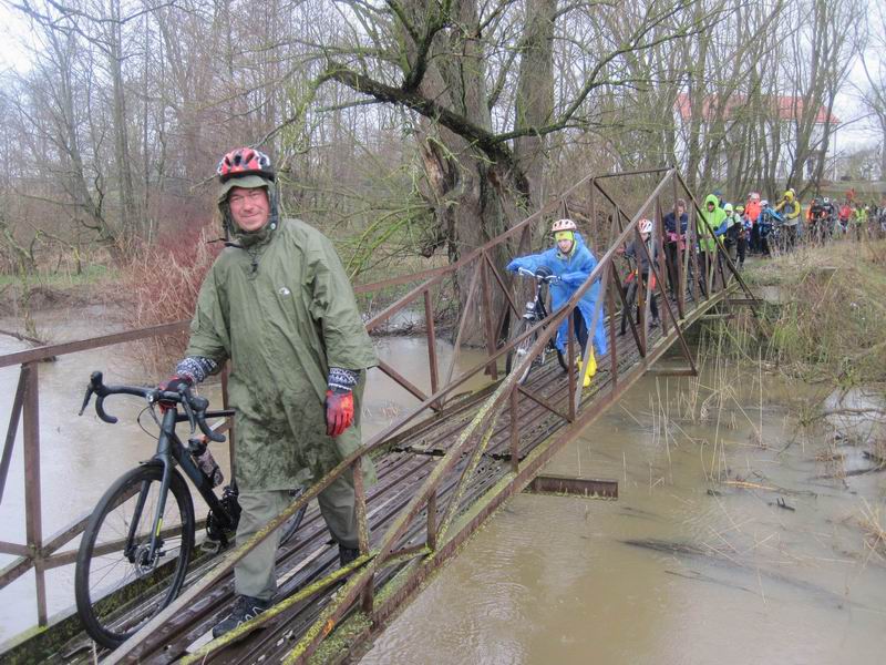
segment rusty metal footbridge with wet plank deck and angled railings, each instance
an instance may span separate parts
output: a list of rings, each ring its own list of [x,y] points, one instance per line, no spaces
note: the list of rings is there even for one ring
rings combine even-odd
[[[649,183],[649,195],[633,211],[617,203],[610,186],[625,177]],[[663,211],[670,209],[678,197],[689,202],[687,237],[666,247]],[[614,481],[548,477],[544,474],[545,464],[645,374],[697,374],[684,338],[690,326],[703,318],[725,316],[733,306],[748,306],[755,311],[759,305],[719,242],[708,260],[684,249],[694,248],[699,239],[704,239],[699,234],[710,233],[696,224],[699,214],[698,202],[673,168],[589,175],[455,264],[357,287],[359,295],[379,297],[399,289],[395,297],[389,296],[383,309],[368,319],[370,332],[380,330],[404,310],[423,316],[425,380],[410,381],[388,362],[373,370],[384,372],[414,397],[413,408],[365,440],[359,451],[308,488],[251,541],[193,563],[179,596],[113,652],[95,649],[73,611],[52,622],[47,615],[45,572],[72,565],[76,553],[72,544],[83,532],[89,515],[58,533],[42,533],[39,364],[49,357],[181,332],[186,323],[0,357],[0,367],[20,367],[0,462],[0,502],[23,420],[27,521],[27,542],[0,540],[0,553],[13,556],[0,571],[0,594],[11,582],[31,573],[41,626],[9,643],[0,653],[0,661],[85,663],[97,657],[105,663],[343,662],[357,657],[360,644],[382,630],[422,582],[455,555],[460,545],[513,494],[535,489],[616,497]],[[539,229],[556,216],[570,216],[578,222],[585,235],[594,239],[599,262],[564,307],[530,328],[518,329],[508,321],[521,320],[521,288],[526,285],[502,272],[501,257],[537,250],[533,238],[540,237]],[[635,266],[619,255],[618,248],[639,238],[638,221],[645,217],[655,221],[652,238],[659,252],[650,255],[646,244],[638,243],[651,265],[650,278],[643,282],[643,275],[637,274],[638,316],[629,316],[628,334],[619,335],[617,320],[628,307],[622,282]],[[456,278],[461,280],[462,307],[450,328],[455,355],[468,341],[472,330],[483,331],[482,357],[474,367],[460,372],[455,371],[455,357],[449,367],[442,367],[437,358],[440,330],[434,308],[441,293],[457,293],[453,290]],[[573,362],[580,347],[571,325],[565,369],[556,361],[540,367],[537,362],[560,323],[573,316],[581,295],[597,282],[601,296],[594,324],[602,318],[609,351],[597,358],[597,374],[591,386],[584,388]],[[650,320],[653,296],[661,319],[657,327]],[[502,334],[508,329],[512,332]],[[517,347],[528,351],[514,355]],[[677,366],[669,362],[668,369],[655,368],[669,349],[674,349],[682,360]],[[512,371],[506,372],[506,366]],[[528,378],[521,382],[529,368]],[[478,378],[483,387],[466,391],[465,386],[476,385]],[[362,475],[364,456],[372,457],[378,470],[379,482],[371,487]],[[339,566],[337,550],[330,544],[312,501],[342,473],[353,474],[360,522],[360,556],[344,567]],[[302,505],[308,505],[302,526],[278,554],[277,604],[255,620],[262,630],[208,641],[212,626],[229,610],[234,564]],[[127,615],[121,621],[137,622],[138,603],[126,607]]]

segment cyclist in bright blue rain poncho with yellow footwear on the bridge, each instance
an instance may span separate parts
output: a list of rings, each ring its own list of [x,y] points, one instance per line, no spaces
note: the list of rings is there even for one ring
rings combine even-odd
[[[543,252],[542,254],[532,254],[529,256],[521,256],[507,264],[507,269],[516,273],[519,268],[525,268],[535,273],[542,266],[550,269],[553,275],[558,279],[550,284],[550,304],[552,310],[558,309],[573,297],[578,288],[590,276],[594,268],[597,267],[597,259],[585,245],[581,234],[578,233],[575,222],[571,219],[557,219],[550,228],[556,241],[556,246]],[[581,299],[576,307],[573,321],[575,325],[575,334],[578,338],[581,349],[587,347],[588,330],[594,321],[594,311],[597,308],[597,300],[600,297],[600,280],[599,278],[585,291]],[[604,356],[607,351],[606,331],[604,329],[604,308],[600,306],[600,314],[597,317],[597,325],[594,328],[594,348],[597,355]],[[568,339],[568,329],[566,326],[568,320],[563,321],[557,330],[557,348],[560,351],[566,351],[566,344]],[[577,359],[579,372],[581,367],[581,358]],[[590,354],[588,366],[585,368],[583,385],[590,386],[590,377],[597,371],[597,361],[594,352]]]

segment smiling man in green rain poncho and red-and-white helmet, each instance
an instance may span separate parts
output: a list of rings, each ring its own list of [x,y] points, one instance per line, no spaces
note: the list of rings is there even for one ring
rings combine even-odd
[[[238,149],[218,164],[218,207],[229,235],[200,287],[186,358],[166,389],[190,386],[231,361],[237,544],[361,444],[365,370],[377,364],[353,289],[332,243],[298,219],[279,219],[267,155]],[[374,481],[369,461],[367,481]],[[358,553],[353,478],[318,497],[342,565]],[[278,533],[234,569],[237,597],[218,637],[272,604]]]

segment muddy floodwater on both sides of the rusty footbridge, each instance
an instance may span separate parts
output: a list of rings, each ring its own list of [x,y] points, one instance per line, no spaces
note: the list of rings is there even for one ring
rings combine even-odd
[[[107,314],[40,323],[60,341],[110,331],[94,324]],[[422,339],[385,338],[378,347],[426,383]],[[0,338],[0,352],[20,348]],[[441,342],[439,351],[445,366],[451,350]],[[467,355],[460,365],[475,361]],[[126,347],[41,366],[44,534],[91,510],[113,479],[153,453],[154,441],[134,424],[135,400],[109,400],[116,426],[75,417],[93,369],[115,382],[146,382]],[[2,423],[17,379],[17,369],[0,370],[9,396]],[[371,381],[364,437],[415,403],[380,372]],[[886,473],[818,478],[836,469],[815,461],[822,441],[796,432],[790,413],[804,396],[763,377],[761,408],[756,375],[735,374],[731,383],[735,399],[719,420],[709,405],[709,419],[693,422],[680,417],[696,395],[687,380],[641,380],[546,469],[616,478],[619,501],[516,497],[362,663],[886,662],[886,565],[857,523],[865,501],[883,507]],[[217,388],[208,395],[219,401]],[[855,443],[847,436],[836,450],[862,463]],[[226,468],[224,447],[217,458]],[[12,542],[24,539],[21,464],[19,441],[0,505],[2,540]],[[71,607],[72,574],[72,566],[48,574],[51,614]],[[34,624],[32,575],[0,598],[0,641]]]

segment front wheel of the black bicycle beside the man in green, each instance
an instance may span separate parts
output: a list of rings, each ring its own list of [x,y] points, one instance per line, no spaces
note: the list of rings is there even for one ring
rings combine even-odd
[[[159,523],[151,534],[163,467],[145,464],[122,475],[92,513],[76,556],[74,595],[86,633],[115,648],[168,605],[185,580],[194,548],[194,504],[185,481],[172,471]]]

